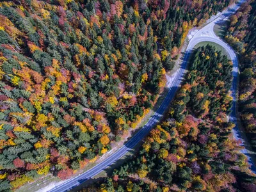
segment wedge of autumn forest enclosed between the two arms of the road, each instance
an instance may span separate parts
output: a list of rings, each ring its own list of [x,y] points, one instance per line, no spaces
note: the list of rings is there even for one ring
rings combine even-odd
[[[228,122],[232,62],[211,45],[193,52],[166,118],[132,161],[82,191],[255,191]]]

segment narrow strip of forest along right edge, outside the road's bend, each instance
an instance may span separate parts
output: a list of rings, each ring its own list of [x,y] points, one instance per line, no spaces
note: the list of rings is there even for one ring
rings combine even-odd
[[[225,36],[239,53],[239,112],[256,151],[256,2],[247,1],[230,18]]]

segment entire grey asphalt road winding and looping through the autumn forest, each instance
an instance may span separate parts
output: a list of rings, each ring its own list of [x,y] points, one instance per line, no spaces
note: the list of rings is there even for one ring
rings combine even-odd
[[[243,3],[243,1],[239,1],[239,3],[234,4],[234,5],[230,6],[229,8],[227,8],[225,11],[223,11],[220,14],[219,17],[217,17],[216,19],[209,22],[209,24],[204,26],[204,28],[200,29],[197,33],[195,33],[193,38],[191,38],[191,40],[189,41],[189,45],[186,49],[186,53],[184,54],[182,64],[176,73],[176,76],[175,76],[175,79],[173,80],[172,86],[170,86],[168,94],[166,95],[165,99],[163,100],[163,103],[157,109],[156,113],[154,113],[154,115],[150,118],[150,120],[148,120],[147,124],[144,125],[140,129],[140,131],[138,131],[135,134],[135,136],[133,136],[131,138],[131,140],[127,141],[127,143],[125,143],[125,145],[123,147],[118,149],[114,154],[112,154],[107,159],[105,159],[101,163],[97,164],[90,170],[82,173],[81,175],[78,175],[77,177],[74,177],[72,179],[69,179],[69,180],[63,182],[59,186],[52,188],[50,191],[51,192],[57,192],[57,191],[62,192],[62,191],[68,191],[72,188],[75,188],[76,186],[80,185],[81,183],[85,182],[86,180],[88,180],[88,179],[94,177],[95,175],[97,175],[98,173],[102,172],[102,170],[106,169],[111,164],[115,163],[115,161],[120,159],[129,150],[131,150],[135,145],[137,145],[137,143],[139,141],[141,141],[148,134],[150,129],[152,129],[157,124],[157,122],[159,122],[159,119],[163,115],[164,111],[166,111],[166,109],[168,108],[170,102],[172,101],[173,97],[175,96],[175,93],[179,87],[179,84],[182,81],[182,77],[184,76],[185,69],[188,64],[188,59],[189,59],[191,52],[193,51],[193,47],[195,47],[195,45],[200,42],[205,42],[205,41],[206,42],[214,42],[216,44],[221,45],[222,47],[224,47],[224,49],[227,50],[227,52],[233,62],[232,75],[233,75],[234,79],[232,82],[232,97],[234,100],[232,103],[232,113],[230,115],[230,120],[236,124],[236,127],[233,129],[234,138],[236,138],[236,140],[241,140],[242,141],[241,145],[246,145],[246,143],[248,143],[248,141],[246,140],[246,136],[244,135],[244,132],[239,130],[239,127],[237,126],[237,120],[236,120],[236,88],[237,88],[237,74],[238,74],[237,56],[236,56],[235,52],[233,51],[233,49],[229,45],[227,45],[225,42],[221,41],[220,38],[218,38],[218,36],[216,36],[214,34],[214,31],[213,31],[214,24],[216,24],[217,22],[220,22],[222,20],[225,20],[228,17],[230,17],[230,15],[234,14],[234,12],[236,12],[236,10],[239,8],[240,3]],[[253,165],[252,160],[251,160],[250,156],[248,155],[248,154],[250,154],[250,152],[248,152],[248,150],[246,148],[241,150],[241,152],[248,157],[250,164],[252,164],[251,170],[256,173],[256,167]]]

